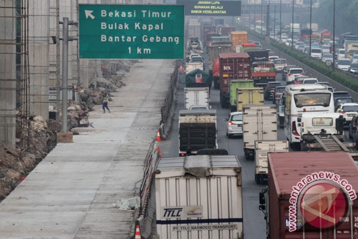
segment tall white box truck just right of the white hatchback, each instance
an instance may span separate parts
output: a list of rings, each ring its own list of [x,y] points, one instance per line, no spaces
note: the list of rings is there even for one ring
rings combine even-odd
[[[276,105],[243,105],[243,142],[246,159],[253,159],[255,140],[277,140]]]

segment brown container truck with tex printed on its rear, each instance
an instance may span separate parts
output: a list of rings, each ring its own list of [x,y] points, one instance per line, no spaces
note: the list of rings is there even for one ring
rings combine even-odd
[[[247,53],[220,53],[220,103],[229,108],[230,80],[248,80],[251,78],[250,57]]]

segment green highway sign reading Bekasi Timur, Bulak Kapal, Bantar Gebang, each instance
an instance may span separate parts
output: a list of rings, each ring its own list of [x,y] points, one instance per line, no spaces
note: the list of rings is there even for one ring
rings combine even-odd
[[[78,28],[79,58],[184,58],[184,6],[79,4]]]

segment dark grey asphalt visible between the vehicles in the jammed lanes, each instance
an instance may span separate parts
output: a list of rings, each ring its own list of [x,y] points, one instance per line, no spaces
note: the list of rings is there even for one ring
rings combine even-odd
[[[280,56],[280,54],[278,54]],[[205,69],[207,69],[207,54],[204,54]],[[288,62],[290,63],[290,62]],[[178,115],[179,110],[184,109],[184,76],[180,82],[177,91],[177,105],[175,115]],[[286,81],[281,80],[281,73],[277,73],[276,81],[280,81],[281,85],[286,85]],[[228,118],[229,109],[222,109],[220,105],[220,90],[215,90],[213,87],[210,92],[210,105],[212,109],[217,110],[218,123],[218,147],[228,150],[230,155],[236,155],[242,167],[242,191],[243,191],[243,229],[245,239],[265,239],[266,238],[266,221],[264,215],[258,210],[258,194],[266,188],[264,185],[257,185],[255,182],[254,162],[247,160],[243,152],[243,140],[241,137],[228,139],[226,136],[225,118]],[[265,104],[272,104],[271,101],[265,101]],[[345,132],[347,134],[348,132]],[[277,127],[277,139],[286,140],[284,129]],[[173,129],[170,136],[160,143],[162,157],[178,157],[178,117],[173,119]],[[295,151],[296,149],[290,149]]]

